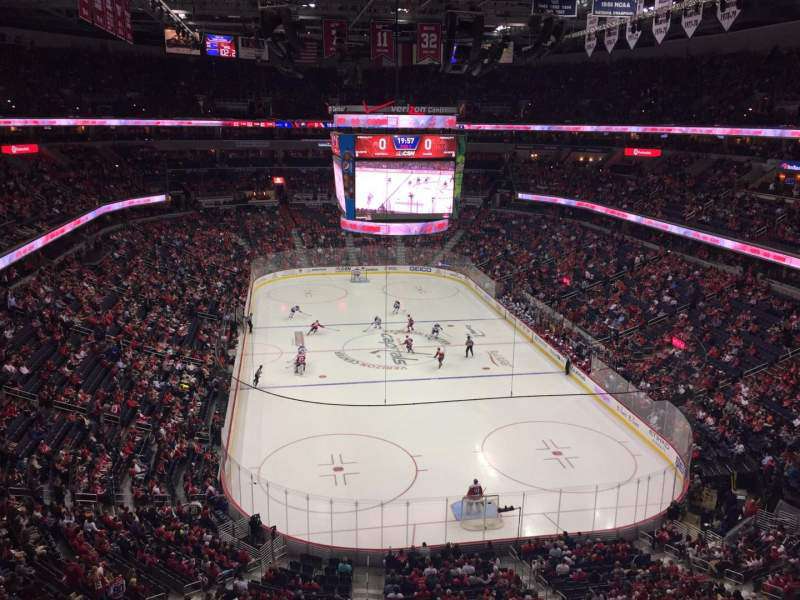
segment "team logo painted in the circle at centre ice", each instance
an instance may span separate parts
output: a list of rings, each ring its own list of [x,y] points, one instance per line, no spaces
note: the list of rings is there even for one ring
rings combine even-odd
[[[401,341],[406,336],[405,329],[386,330],[378,334],[379,339],[377,348],[368,348],[375,340],[375,334],[369,334],[348,340],[342,350],[333,353],[351,365],[358,365],[367,369],[384,369],[387,371],[405,371],[410,366],[420,361],[420,356],[427,353],[427,348],[420,350],[419,355],[406,352]],[[433,341],[440,346],[449,346],[450,342],[444,338],[434,338],[431,335],[413,333],[411,337],[414,343],[420,340]],[[361,342],[361,343],[359,343]],[[356,348],[348,349],[348,345],[355,345]],[[364,346],[364,347],[359,347]]]

